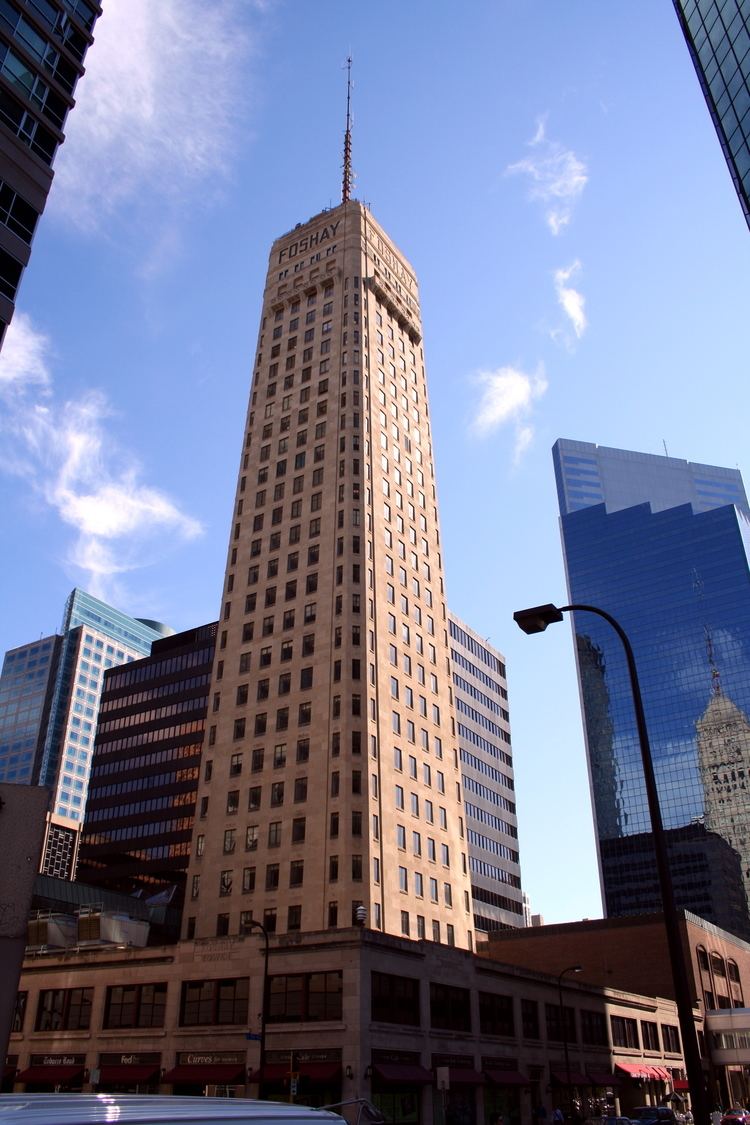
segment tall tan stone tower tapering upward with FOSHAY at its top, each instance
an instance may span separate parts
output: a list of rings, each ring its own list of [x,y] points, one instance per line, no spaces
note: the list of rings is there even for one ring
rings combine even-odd
[[[184,933],[470,947],[417,281],[344,200],[271,249]]]

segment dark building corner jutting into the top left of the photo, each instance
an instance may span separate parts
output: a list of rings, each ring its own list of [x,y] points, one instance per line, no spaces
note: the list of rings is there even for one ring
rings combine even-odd
[[[0,0],[0,346],[100,14],[98,0]]]

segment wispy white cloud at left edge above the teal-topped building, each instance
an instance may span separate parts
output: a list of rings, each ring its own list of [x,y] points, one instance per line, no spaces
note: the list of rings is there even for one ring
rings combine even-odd
[[[66,561],[111,596],[115,576],[148,565],[172,540],[202,531],[168,495],[142,480],[136,460],[107,429],[111,410],[90,392],[57,402],[48,339],[17,313],[0,356],[0,468],[72,528]]]

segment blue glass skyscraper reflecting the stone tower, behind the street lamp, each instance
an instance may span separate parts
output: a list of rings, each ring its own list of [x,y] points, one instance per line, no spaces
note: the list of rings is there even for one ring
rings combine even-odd
[[[750,937],[750,512],[740,474],[559,441],[572,602],[612,613],[643,691],[678,906]],[[605,907],[654,907],[656,871],[622,646],[575,615]]]

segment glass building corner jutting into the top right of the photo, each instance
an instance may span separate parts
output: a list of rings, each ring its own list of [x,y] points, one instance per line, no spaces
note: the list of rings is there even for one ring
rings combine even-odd
[[[674,0],[750,226],[750,0]]]

